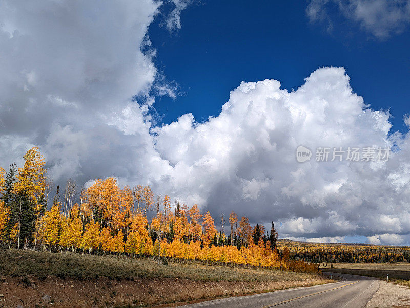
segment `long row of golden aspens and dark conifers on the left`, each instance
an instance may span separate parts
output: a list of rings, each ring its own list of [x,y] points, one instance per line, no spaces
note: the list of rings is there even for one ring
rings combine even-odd
[[[3,247],[318,271],[315,264],[291,260],[287,248],[278,252],[273,223],[265,234],[262,225],[252,228],[247,217],[238,221],[232,212],[227,236],[223,214],[218,232],[210,212],[201,214],[196,204],[172,205],[168,195],[155,196],[149,186],[120,188],[113,177],[80,192],[69,180],[65,192],[57,186],[51,200],[53,183],[39,149],[27,151],[24,160],[23,168],[0,169]]]

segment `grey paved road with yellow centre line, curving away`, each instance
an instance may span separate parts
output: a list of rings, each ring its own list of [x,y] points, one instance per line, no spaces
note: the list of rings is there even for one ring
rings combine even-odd
[[[330,274],[330,273],[329,273]],[[336,275],[336,273],[332,273]],[[345,281],[256,295],[210,300],[185,307],[364,307],[379,289],[372,277],[337,274]]]

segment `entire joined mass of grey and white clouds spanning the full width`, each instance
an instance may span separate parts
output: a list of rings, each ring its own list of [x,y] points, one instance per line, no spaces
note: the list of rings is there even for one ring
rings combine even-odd
[[[161,126],[150,94],[174,94],[157,83],[147,37],[160,3],[1,4],[0,165],[21,164],[38,145],[57,183],[115,175],[215,216],[273,220],[281,236],[408,243],[409,138],[388,135],[388,112],[365,105],[343,68],[320,68],[292,92],[276,80],[242,82],[217,117]],[[299,145],[394,153],[383,163],[298,163]]]

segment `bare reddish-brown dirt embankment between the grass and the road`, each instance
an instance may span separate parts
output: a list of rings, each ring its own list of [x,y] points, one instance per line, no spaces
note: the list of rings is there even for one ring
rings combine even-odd
[[[177,305],[193,300],[240,295],[245,293],[316,285],[329,282],[317,276],[305,281],[195,281],[178,278],[139,278],[134,281],[60,279],[34,277],[2,277],[0,307],[95,307],[138,306],[171,303]],[[2,306],[3,305],[3,306]]]

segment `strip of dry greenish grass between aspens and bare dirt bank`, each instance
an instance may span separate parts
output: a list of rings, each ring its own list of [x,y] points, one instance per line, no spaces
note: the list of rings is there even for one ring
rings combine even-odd
[[[141,278],[179,278],[203,281],[288,281],[304,280],[314,274],[285,272],[270,269],[244,269],[204,265],[169,263],[158,265],[149,259],[97,256],[35,251],[0,250],[0,272],[5,276],[34,275],[45,279],[48,275],[79,280],[110,279],[132,280]]]

